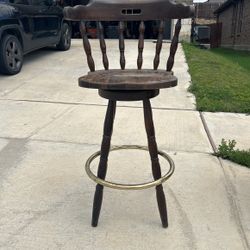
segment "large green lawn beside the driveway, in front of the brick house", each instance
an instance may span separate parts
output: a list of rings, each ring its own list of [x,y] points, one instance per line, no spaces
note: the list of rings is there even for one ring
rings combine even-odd
[[[198,110],[250,113],[250,52],[183,48]]]

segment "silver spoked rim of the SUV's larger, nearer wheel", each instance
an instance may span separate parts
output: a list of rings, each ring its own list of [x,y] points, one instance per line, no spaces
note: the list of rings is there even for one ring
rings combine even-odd
[[[22,53],[16,41],[10,40],[6,46],[6,60],[9,68],[18,71],[22,65]]]

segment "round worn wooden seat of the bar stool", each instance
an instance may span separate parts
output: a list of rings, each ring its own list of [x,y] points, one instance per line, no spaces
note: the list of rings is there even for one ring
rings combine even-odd
[[[172,72],[153,69],[111,69],[89,72],[78,80],[84,88],[103,90],[153,90],[177,85]]]

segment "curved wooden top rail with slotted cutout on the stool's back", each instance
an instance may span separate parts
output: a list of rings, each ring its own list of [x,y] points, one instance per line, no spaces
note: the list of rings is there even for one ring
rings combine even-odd
[[[90,0],[87,5],[64,8],[64,18],[74,21],[166,20],[193,15],[193,6],[173,0]]]

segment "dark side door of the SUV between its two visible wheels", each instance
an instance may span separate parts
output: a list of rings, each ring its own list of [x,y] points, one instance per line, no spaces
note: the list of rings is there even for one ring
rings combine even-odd
[[[37,47],[58,42],[62,20],[62,9],[52,1],[29,0],[33,8],[33,41]]]

